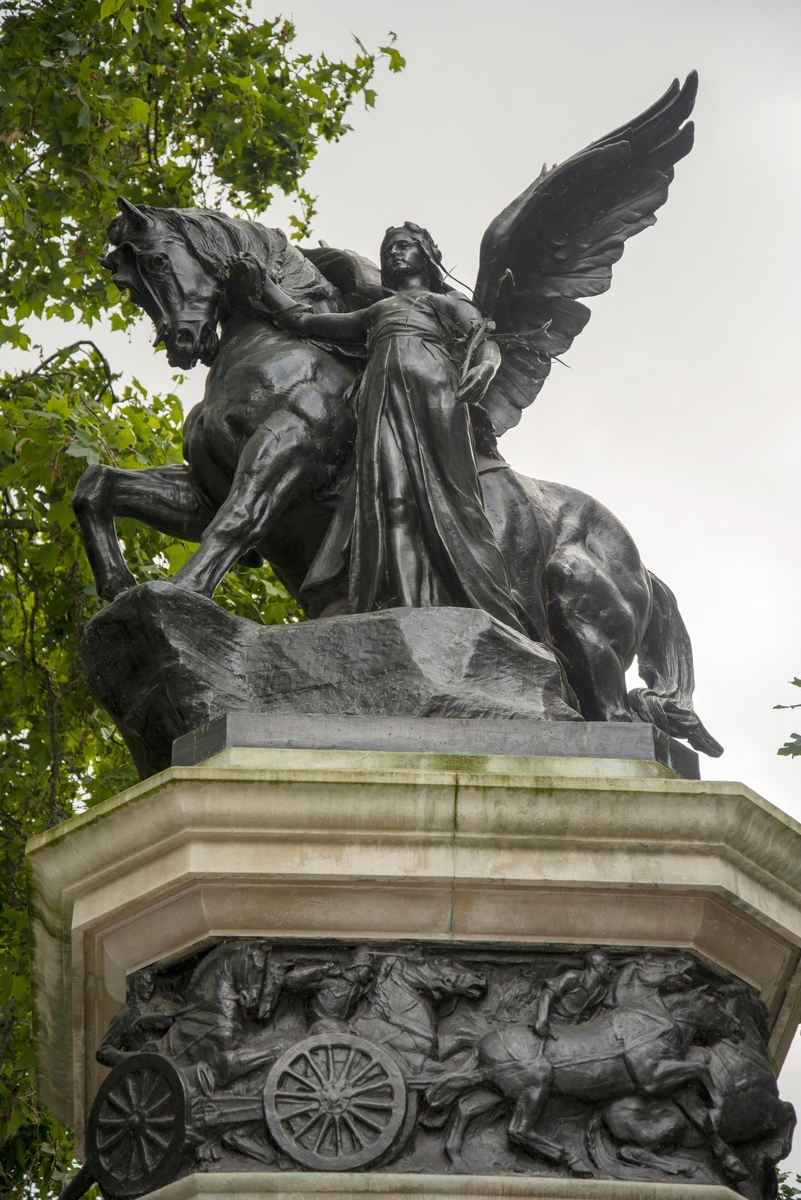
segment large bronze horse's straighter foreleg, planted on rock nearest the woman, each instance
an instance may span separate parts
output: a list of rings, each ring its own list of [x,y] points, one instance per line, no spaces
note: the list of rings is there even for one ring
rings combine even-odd
[[[330,479],[308,424],[291,410],[275,414],[247,442],[227,500],[171,582],[212,595],[225,571],[259,545],[283,512]]]

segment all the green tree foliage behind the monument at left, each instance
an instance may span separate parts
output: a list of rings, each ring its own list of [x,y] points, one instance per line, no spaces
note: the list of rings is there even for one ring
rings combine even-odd
[[[247,0],[0,2],[0,343],[28,348],[34,317],[135,319],[95,257],[119,193],[134,202],[263,211],[295,196],[320,140],[347,130],[383,55],[293,49],[289,22],[251,24]],[[0,373],[0,1194],[49,1196],[72,1171],[68,1130],[37,1104],[23,854],[28,838],[114,794],[134,773],[90,695],[78,648],[98,608],[70,508],[89,463],[181,460],[177,397],[122,380],[85,334]],[[34,358],[31,353],[31,359]],[[176,377],[180,378],[180,377]],[[119,522],[140,581],[192,547]],[[253,620],[297,612],[269,570],[231,572],[215,599]]]

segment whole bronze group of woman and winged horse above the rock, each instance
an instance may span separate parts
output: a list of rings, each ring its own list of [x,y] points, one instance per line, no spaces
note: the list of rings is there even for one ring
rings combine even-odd
[[[389,230],[379,270],[327,247],[302,258],[278,230],[218,212],[121,202],[107,265],[170,364],[211,370],[182,467],[95,467],[79,484],[101,594],[134,582],[113,523],[139,517],[200,541],[181,587],[210,595],[257,552],[312,617],[481,607],[554,649],[588,720],[654,721],[719,754],[693,712],[670,590],[608,510],[498,450],[586,324],[579,298],[609,287],[625,241],[656,220],[692,146],[695,88],[694,74],[674,83],[543,170],[484,234],[471,300],[412,223]],[[648,686],[628,692],[634,656]]]

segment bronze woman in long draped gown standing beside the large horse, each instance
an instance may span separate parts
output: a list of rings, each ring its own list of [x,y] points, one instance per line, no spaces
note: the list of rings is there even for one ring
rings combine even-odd
[[[536,636],[518,617],[484,512],[468,408],[492,383],[498,346],[482,340],[466,359],[481,313],[445,286],[428,230],[411,222],[387,229],[380,258],[389,294],[353,313],[305,313],[266,275],[261,296],[248,298],[303,336],[367,346],[355,396],[355,487],[343,497],[353,517],[344,527],[335,518],[335,538],[318,557],[333,558],[336,578],[350,546],[349,612],[483,608]],[[325,580],[315,560],[301,595]]]

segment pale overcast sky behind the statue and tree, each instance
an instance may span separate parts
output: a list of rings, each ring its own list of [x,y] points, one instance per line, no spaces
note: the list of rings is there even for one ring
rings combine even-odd
[[[743,780],[801,818],[799,0],[254,0],[297,46],[333,56],[389,30],[408,59],[324,148],[306,186],[315,238],[373,258],[384,229],[428,227],[475,277],[489,221],[538,173],[700,73],[697,140],[655,228],[501,449],[520,472],[583,488],[628,527],[689,628],[697,707],[725,745],[707,779]],[[270,224],[290,211],[276,203]],[[109,337],[118,366],[164,389],[147,330]],[[185,389],[199,398],[203,368]],[[797,1067],[795,1058],[797,1057]],[[801,1054],[785,1094],[801,1109]],[[796,1153],[801,1170],[801,1153]]]

